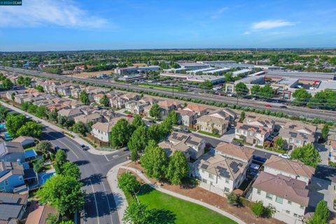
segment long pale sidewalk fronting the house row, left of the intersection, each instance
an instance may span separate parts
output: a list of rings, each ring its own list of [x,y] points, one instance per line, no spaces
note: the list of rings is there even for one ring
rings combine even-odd
[[[0,104],[3,105],[3,106],[6,106],[8,109],[10,109],[12,111],[16,111],[16,112],[21,113],[21,114],[23,114],[25,116],[30,116],[32,118],[32,120],[39,121],[39,122],[41,122],[42,125],[44,125],[46,127],[50,127],[50,128],[52,128],[53,130],[55,130],[57,132],[62,132],[62,133],[67,132],[67,133],[71,134],[73,136],[73,138],[71,138],[71,139],[73,139],[74,141],[76,141],[80,145],[85,145],[85,146],[88,146],[90,148],[89,150],[87,150],[87,152],[89,152],[89,153],[92,153],[94,155],[105,155],[105,154],[111,154],[111,153],[113,153],[113,152],[109,152],[109,151],[98,151],[91,144],[89,144],[84,139],[80,138],[78,136],[78,134],[76,134],[74,132],[70,132],[70,131],[65,130],[65,129],[61,128],[61,127],[58,127],[57,125],[49,123],[48,121],[43,120],[41,118],[38,118],[38,117],[36,117],[34,115],[31,115],[30,113],[27,113],[25,111],[22,111],[21,109],[18,109],[15,106],[12,106],[10,104],[6,104],[5,102],[0,102]]]

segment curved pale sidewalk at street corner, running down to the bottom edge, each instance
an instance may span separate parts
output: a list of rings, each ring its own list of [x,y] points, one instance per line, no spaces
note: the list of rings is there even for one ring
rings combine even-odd
[[[112,167],[112,169],[110,169],[109,172],[106,174],[106,178],[107,181],[109,182],[109,186],[111,188],[114,201],[116,202],[116,209],[118,211],[119,223],[123,223],[123,216],[128,206],[128,203],[125,194],[123,193],[123,190],[118,188],[118,171],[121,167],[130,162],[131,162],[130,160],[127,160],[126,162],[120,163]]]

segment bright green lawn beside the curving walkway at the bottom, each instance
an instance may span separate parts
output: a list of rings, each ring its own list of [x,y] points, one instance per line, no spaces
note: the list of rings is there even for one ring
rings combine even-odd
[[[230,218],[218,214],[198,204],[186,202],[179,198],[160,193],[148,185],[141,188],[138,198],[149,209],[158,209],[166,223],[211,223],[211,224],[233,224],[236,223]],[[170,219],[171,222],[167,222]]]

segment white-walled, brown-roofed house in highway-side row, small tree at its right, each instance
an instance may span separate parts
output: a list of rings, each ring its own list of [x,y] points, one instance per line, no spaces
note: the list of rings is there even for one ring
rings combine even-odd
[[[247,144],[263,146],[265,140],[274,131],[274,120],[259,116],[247,116],[243,123],[237,123],[235,138],[246,141]]]

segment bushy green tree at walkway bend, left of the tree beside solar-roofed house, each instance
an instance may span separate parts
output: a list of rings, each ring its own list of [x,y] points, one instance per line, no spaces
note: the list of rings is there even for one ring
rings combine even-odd
[[[145,154],[140,158],[142,167],[146,174],[154,179],[162,179],[165,177],[165,171],[168,165],[168,158],[165,151],[158,147],[155,141],[148,141],[145,148]]]

